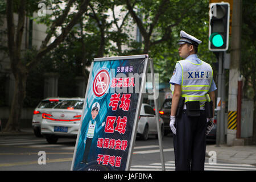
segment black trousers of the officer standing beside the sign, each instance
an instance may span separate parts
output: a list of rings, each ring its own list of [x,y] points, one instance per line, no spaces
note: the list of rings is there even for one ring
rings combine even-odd
[[[205,132],[207,119],[205,111],[200,117],[188,117],[183,110],[180,118],[176,118],[174,135],[174,154],[176,171],[204,171]]]

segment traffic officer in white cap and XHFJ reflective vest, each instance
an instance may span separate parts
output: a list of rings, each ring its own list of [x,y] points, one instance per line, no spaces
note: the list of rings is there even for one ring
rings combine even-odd
[[[170,127],[174,133],[175,169],[204,170],[205,138],[213,128],[213,118],[207,119],[204,105],[214,100],[216,85],[212,67],[197,57],[201,40],[180,31],[179,55],[170,84],[173,91]],[[207,97],[208,94],[208,97]],[[182,112],[176,115],[180,98]],[[214,113],[214,107],[213,107]]]

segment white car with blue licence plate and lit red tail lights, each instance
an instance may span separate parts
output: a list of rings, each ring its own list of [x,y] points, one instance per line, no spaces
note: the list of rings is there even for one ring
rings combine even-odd
[[[76,137],[82,114],[83,98],[69,98],[42,114],[41,134],[48,143],[59,137]]]

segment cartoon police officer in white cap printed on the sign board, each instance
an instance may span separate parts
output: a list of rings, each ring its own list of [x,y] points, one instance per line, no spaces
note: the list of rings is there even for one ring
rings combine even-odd
[[[92,140],[94,137],[94,133],[96,131],[96,133],[98,133],[98,131],[105,125],[105,122],[102,122],[101,126],[100,122],[96,121],[96,117],[98,115],[100,111],[100,104],[98,102],[95,102],[92,105],[92,120],[89,121],[89,125],[88,125],[88,129],[86,130],[86,138],[84,140],[85,143],[85,150],[84,150],[84,155],[82,157],[82,161],[80,162],[81,164],[88,164],[88,156],[89,156],[89,152],[90,152],[90,146],[92,144]]]

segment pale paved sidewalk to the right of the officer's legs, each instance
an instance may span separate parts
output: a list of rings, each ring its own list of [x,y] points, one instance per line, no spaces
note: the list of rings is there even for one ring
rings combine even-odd
[[[251,146],[226,146],[220,145],[216,147],[216,144],[207,145],[206,156],[209,151],[215,151],[217,160],[222,160],[230,163],[237,164],[252,164],[256,166],[256,145]]]

